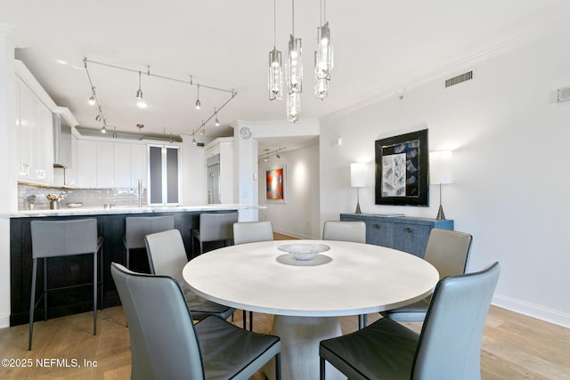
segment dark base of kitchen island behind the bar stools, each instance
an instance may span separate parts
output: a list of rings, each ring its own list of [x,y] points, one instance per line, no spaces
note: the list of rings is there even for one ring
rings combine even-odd
[[[186,255],[191,259],[191,232],[199,226],[200,212],[149,213],[136,216],[175,215],[175,228],[183,236]],[[99,214],[85,216],[53,216],[38,218],[12,218],[10,222],[10,269],[11,269],[11,315],[10,326],[23,325],[29,322],[29,299],[31,295],[32,278],[32,243],[30,222],[34,220],[69,220],[97,219],[97,230],[105,241],[103,244],[103,300],[98,300],[98,308],[117,306],[120,304],[117,288],[110,276],[110,263],[125,262],[125,218],[131,214]],[[132,215],[134,216],[134,215]],[[204,250],[223,247],[223,242],[212,242],[204,245]],[[198,244],[195,252],[199,253]],[[131,270],[149,272],[146,250],[132,249]],[[43,260],[38,261],[37,299],[44,284]],[[73,255],[53,257],[48,259],[48,287],[65,287],[77,284],[91,284],[93,281],[93,256]],[[151,302],[151,300],[150,300]],[[63,317],[93,310],[93,287],[74,287],[56,290],[48,294],[47,319]],[[34,320],[44,320],[44,301],[37,303]]]

